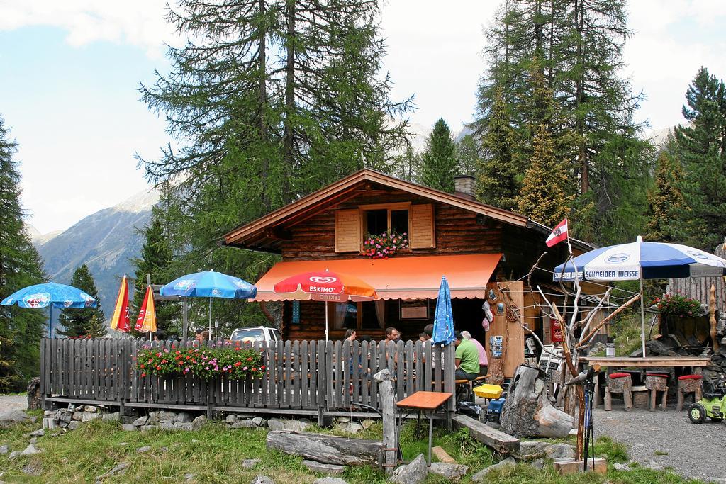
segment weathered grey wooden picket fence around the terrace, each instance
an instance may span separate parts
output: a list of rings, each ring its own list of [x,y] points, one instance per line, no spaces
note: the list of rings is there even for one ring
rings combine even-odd
[[[134,356],[147,340],[41,342],[41,394],[53,403],[106,404],[170,410],[277,414],[365,414],[380,410],[372,375],[388,368],[396,401],[418,390],[454,393],[454,347],[406,343],[256,342],[266,374],[261,378],[205,381],[191,375],[142,377]],[[174,342],[174,345],[179,345]],[[189,343],[190,344],[190,343]],[[172,342],[155,342],[169,348]],[[454,398],[446,408],[454,411]]]

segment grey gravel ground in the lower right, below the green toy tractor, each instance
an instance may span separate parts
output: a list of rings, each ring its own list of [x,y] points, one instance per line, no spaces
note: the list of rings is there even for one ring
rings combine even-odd
[[[609,435],[628,446],[630,459],[642,465],[654,462],[673,467],[683,477],[726,478],[726,424],[692,424],[686,410],[677,412],[602,407],[592,415],[597,435]],[[667,452],[666,455],[656,455]]]

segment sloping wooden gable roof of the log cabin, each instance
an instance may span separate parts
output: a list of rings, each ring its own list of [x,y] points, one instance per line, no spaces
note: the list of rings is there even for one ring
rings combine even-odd
[[[486,203],[441,192],[428,186],[397,179],[380,171],[364,168],[319,189],[317,192],[273,210],[266,216],[229,231],[228,234],[224,235],[222,243],[232,247],[279,254],[282,241],[286,238],[285,234],[290,227],[319,213],[336,208],[354,197],[366,193],[375,193],[380,190],[412,194],[431,200],[431,202],[439,202],[462,210],[468,210],[502,223],[532,229],[540,234],[549,235],[552,231],[550,227],[532,221],[520,213],[486,205]],[[582,251],[595,248],[595,246],[587,242],[572,238],[570,240],[573,247]]]

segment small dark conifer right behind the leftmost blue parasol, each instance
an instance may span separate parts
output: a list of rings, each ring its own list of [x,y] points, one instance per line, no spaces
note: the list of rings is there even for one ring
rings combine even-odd
[[[96,282],[86,264],[81,264],[73,271],[70,285],[98,300]],[[100,303],[95,308],[62,309],[58,322],[64,328],[58,334],[63,336],[102,337],[106,334],[105,318]]]

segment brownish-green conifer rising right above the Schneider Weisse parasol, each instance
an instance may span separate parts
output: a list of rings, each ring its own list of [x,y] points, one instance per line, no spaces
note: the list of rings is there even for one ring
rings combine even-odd
[[[690,218],[690,208],[681,192],[683,168],[667,151],[661,151],[656,165],[656,185],[648,192],[650,220],[645,239],[653,242],[680,242],[678,222]]]

